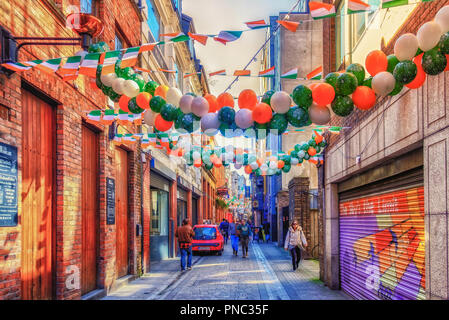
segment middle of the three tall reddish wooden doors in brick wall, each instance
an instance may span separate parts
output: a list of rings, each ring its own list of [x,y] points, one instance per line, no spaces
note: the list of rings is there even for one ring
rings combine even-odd
[[[83,125],[82,136],[81,293],[85,294],[97,287],[98,135]]]

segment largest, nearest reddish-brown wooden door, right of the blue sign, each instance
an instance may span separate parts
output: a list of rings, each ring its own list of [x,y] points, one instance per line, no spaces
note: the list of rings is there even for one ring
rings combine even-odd
[[[22,298],[53,296],[56,119],[54,108],[23,90]]]

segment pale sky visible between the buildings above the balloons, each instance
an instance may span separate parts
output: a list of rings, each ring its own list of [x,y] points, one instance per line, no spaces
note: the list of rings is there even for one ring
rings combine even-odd
[[[297,0],[183,0],[182,11],[193,18],[197,33],[218,34],[221,30],[246,30],[245,22],[264,19],[279,12],[288,12]],[[197,57],[201,60],[207,73],[226,69],[228,74],[245,67],[251,57],[266,40],[268,29],[244,32],[240,39],[229,42],[226,46],[209,38],[207,45],[195,42]],[[259,72],[260,61],[253,62],[249,69],[253,74]],[[211,93],[219,95],[232,82],[234,77],[215,76],[209,78]],[[244,89],[259,92],[259,79],[240,77],[229,91],[238,96]]]

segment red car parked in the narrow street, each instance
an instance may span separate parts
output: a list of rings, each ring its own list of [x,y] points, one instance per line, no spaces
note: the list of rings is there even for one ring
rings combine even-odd
[[[193,227],[195,236],[192,241],[192,252],[205,253],[212,252],[219,256],[224,249],[224,238],[216,225],[197,224]]]

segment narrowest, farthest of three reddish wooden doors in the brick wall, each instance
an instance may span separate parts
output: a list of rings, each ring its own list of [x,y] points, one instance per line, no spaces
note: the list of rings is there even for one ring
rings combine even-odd
[[[118,277],[128,274],[128,153],[115,152],[115,227],[117,235],[116,268]]]

